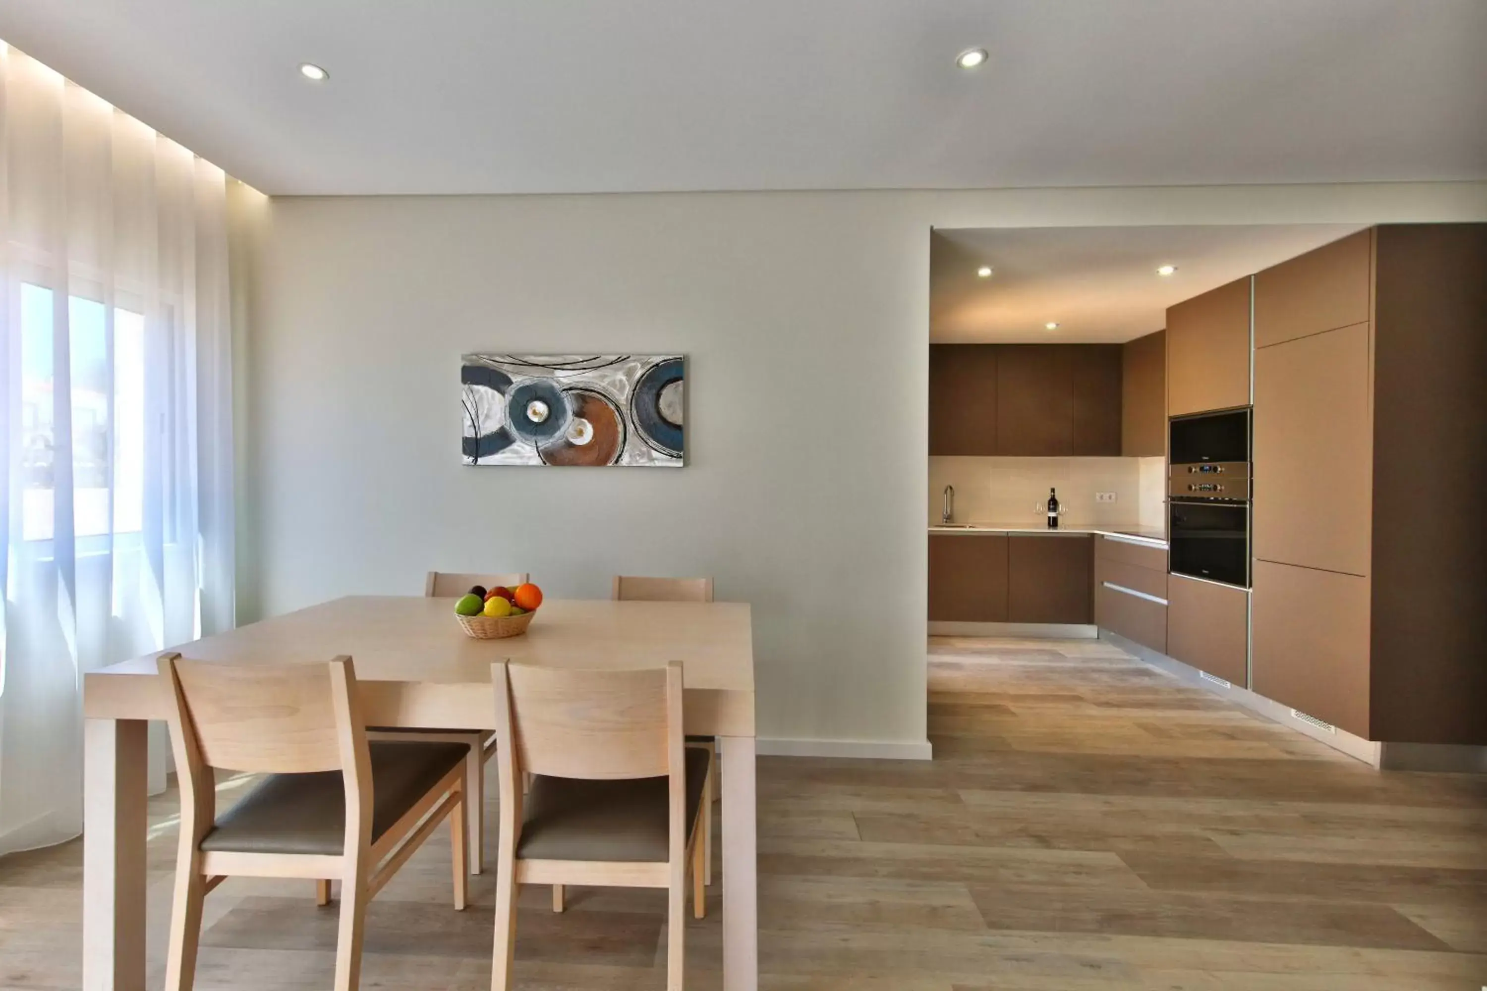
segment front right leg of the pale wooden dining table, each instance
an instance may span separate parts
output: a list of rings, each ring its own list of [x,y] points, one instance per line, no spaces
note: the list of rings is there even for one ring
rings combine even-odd
[[[758,798],[754,737],[723,744],[723,990],[758,988]]]

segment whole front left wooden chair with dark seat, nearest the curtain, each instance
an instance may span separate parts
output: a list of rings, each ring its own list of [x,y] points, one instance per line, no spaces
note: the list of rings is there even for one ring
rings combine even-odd
[[[207,893],[228,877],[341,878],[336,991],[361,976],[367,902],[449,820],[455,909],[465,906],[465,749],[367,743],[349,657],[329,664],[158,661],[180,782],[168,991],[190,991]],[[217,814],[213,768],[268,774]]]

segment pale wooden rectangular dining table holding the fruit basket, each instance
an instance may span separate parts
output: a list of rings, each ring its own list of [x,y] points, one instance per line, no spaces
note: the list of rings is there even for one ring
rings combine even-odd
[[[754,648],[736,602],[549,600],[522,636],[464,634],[452,599],[352,596],[170,648],[192,660],[309,664],[348,654],[369,725],[494,730],[491,663],[570,669],[681,661],[686,732],[718,737],[723,987],[758,985]],[[143,991],[146,768],[165,718],[156,657],[83,679],[83,988]]]

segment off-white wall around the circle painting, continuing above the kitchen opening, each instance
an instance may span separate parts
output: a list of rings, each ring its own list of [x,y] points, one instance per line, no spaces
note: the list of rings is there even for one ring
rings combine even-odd
[[[241,618],[439,569],[709,574],[758,727],[925,738],[931,226],[1487,220],[1487,186],[277,199]],[[465,351],[683,351],[683,471],[465,468]],[[901,752],[901,750],[900,750]]]

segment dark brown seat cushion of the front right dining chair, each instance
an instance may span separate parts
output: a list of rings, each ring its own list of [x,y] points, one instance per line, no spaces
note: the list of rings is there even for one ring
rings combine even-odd
[[[708,777],[708,752],[690,749],[686,761],[690,839]],[[665,777],[590,782],[538,774],[526,795],[516,856],[523,860],[668,860],[668,789]]]

